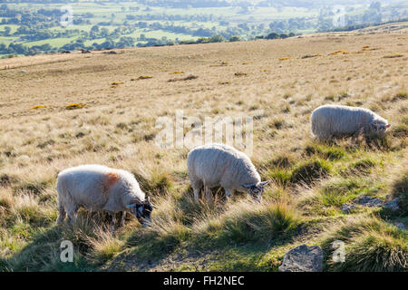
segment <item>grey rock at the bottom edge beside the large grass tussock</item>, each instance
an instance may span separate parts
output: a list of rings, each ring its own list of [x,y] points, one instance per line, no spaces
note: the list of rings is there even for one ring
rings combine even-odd
[[[301,245],[285,254],[279,272],[321,272],[323,251],[321,247]]]

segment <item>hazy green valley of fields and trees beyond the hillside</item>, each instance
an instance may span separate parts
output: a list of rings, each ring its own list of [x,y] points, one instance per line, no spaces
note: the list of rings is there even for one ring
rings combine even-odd
[[[257,6],[256,2],[254,5],[185,8],[176,7],[177,3],[160,6],[120,1],[80,1],[67,5],[7,2],[0,5],[0,55],[33,55],[79,47],[163,45],[193,42],[217,34],[226,40],[232,36],[250,40],[271,32],[307,34],[334,26],[403,19],[407,9],[398,1],[377,8],[352,2],[345,5],[316,4],[308,8]],[[72,11],[73,21],[65,26],[63,22],[68,18],[63,15],[67,15],[67,7]],[[341,13],[337,11],[339,7]],[[335,17],[343,14],[346,15],[345,23],[335,24]],[[21,46],[10,49],[11,43],[23,45],[25,49]],[[115,46],[115,43],[120,44]],[[51,47],[41,47],[44,44]]]

